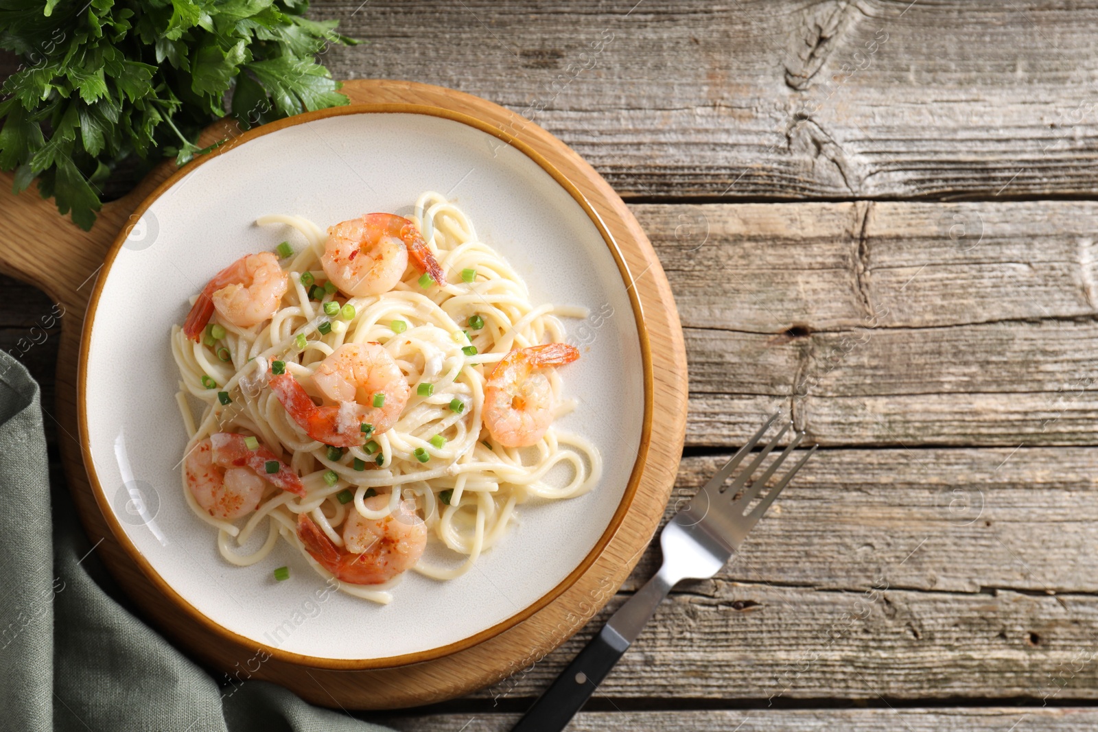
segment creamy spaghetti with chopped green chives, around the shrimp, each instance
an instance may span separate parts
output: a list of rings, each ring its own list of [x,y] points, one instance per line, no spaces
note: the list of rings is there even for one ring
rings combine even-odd
[[[424,555],[412,568],[450,579],[504,540],[525,502],[570,498],[597,484],[602,458],[583,437],[549,426],[529,447],[504,447],[484,426],[485,391],[498,362],[515,349],[563,341],[560,318],[586,312],[531,304],[523,279],[442,195],[422,194],[414,211],[411,221],[446,273],[445,284],[408,266],[391,290],[349,295],[332,284],[322,267],[328,236],[321,227],[300,216],[265,216],[258,225],[295,232],[292,238],[304,243],[279,262],[289,284],[273,315],[240,327],[215,312],[198,342],[173,327],[177,401],[190,436],[188,455],[217,433],[245,435],[248,446],[258,443],[272,453],[268,466],[284,464],[303,488],[304,495],[296,495],[264,481],[255,510],[221,518],[199,504],[189,484],[195,480],[193,471],[184,466],[183,496],[217,530],[226,561],[255,564],[281,538],[330,577],[299,536],[300,515],[306,514],[346,554],[350,549],[340,527],[357,511],[371,521],[422,521],[436,549],[451,553],[450,561],[446,551],[433,550],[433,559]],[[282,245],[280,254],[289,250]],[[316,397],[312,378],[346,344],[380,344],[399,367],[408,395],[391,428],[371,432],[363,424],[361,444],[333,447],[310,437],[276,395],[271,380],[278,378],[273,373],[289,374]],[[564,397],[567,373],[567,368],[538,370],[551,390],[552,417],[575,407]],[[340,588],[388,603],[400,577],[381,584],[340,582]]]

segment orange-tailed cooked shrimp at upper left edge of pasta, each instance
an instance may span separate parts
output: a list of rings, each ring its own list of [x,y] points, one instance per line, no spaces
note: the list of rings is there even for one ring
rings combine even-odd
[[[219,272],[199,294],[183,323],[183,335],[202,338],[214,308],[226,322],[250,328],[274,315],[288,286],[278,257],[269,251],[245,255]]]

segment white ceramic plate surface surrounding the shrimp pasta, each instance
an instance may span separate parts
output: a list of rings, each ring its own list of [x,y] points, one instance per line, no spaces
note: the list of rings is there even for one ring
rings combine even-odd
[[[449,582],[410,572],[388,606],[324,594],[321,577],[284,542],[254,566],[229,565],[216,532],[182,495],[177,464],[187,436],[175,404],[171,325],[182,323],[188,297],[225,263],[290,236],[255,225],[257,217],[301,214],[324,227],[372,211],[406,214],[425,190],[464,209],[526,279],[535,304],[613,313],[597,324],[565,322],[582,358],[564,382],[579,408],[559,424],[598,446],[601,484],[575,499],[522,506],[519,523],[475,568]],[[108,261],[89,308],[83,363],[92,482],[146,572],[209,622],[322,665],[432,657],[509,627],[563,589],[607,531],[645,421],[629,292],[608,239],[573,194],[488,132],[430,114],[365,111],[282,127],[178,178]],[[273,581],[281,565],[290,566],[291,581]]]

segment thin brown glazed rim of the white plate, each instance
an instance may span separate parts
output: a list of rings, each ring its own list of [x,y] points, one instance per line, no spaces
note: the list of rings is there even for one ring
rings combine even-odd
[[[634,461],[632,470],[629,473],[629,478],[626,483],[625,492],[623,493],[621,499],[618,503],[613,516],[610,517],[609,523],[603,533],[600,536],[598,541],[591,549],[590,552],[583,558],[583,560],[571,571],[569,574],[561,579],[557,585],[554,585],[549,592],[545,593],[537,600],[531,603],[529,606],[523,608],[518,612],[515,612],[500,622],[485,628],[482,631],[473,633],[467,638],[448,643],[446,645],[440,645],[434,649],[428,649],[425,651],[416,651],[413,653],[405,653],[400,655],[383,656],[379,658],[328,658],[323,656],[312,656],[307,654],[294,653],[290,651],[283,651],[274,646],[269,646],[265,643],[260,643],[245,635],[236,633],[224,626],[215,622],[212,618],[201,612],[193,605],[188,603],[175,588],[168,584],[152,563],[145,558],[144,554],[137,549],[137,547],[130,540],[128,534],[126,534],[125,529],[119,522],[117,518],[114,516],[114,510],[111,507],[110,500],[107,497],[107,493],[103,489],[102,484],[99,481],[99,475],[96,472],[94,463],[91,458],[90,439],[88,433],[88,420],[87,420],[87,375],[88,375],[88,353],[91,345],[91,334],[93,330],[96,322],[96,313],[98,311],[99,299],[102,294],[103,285],[107,282],[107,274],[110,272],[112,264],[122,249],[130,232],[141,219],[142,215],[152,206],[164,193],[168,192],[177,182],[181,181],[183,178],[193,172],[199,166],[212,160],[221,155],[228,153],[236,146],[262,137],[265,135],[284,129],[287,127],[295,126],[299,124],[307,124],[316,120],[324,120],[335,116],[346,116],[354,114],[423,114],[426,116],[434,116],[439,119],[449,120],[451,122],[458,122],[467,126],[479,129],[480,132],[486,133],[503,140],[505,144],[514,147],[519,153],[524,154],[527,158],[534,161],[538,167],[540,167],[545,172],[547,172],[553,181],[564,189],[564,191],[575,201],[583,212],[587,215],[591,222],[594,224],[603,241],[606,244],[610,251],[614,262],[617,266],[618,274],[621,277],[623,283],[626,285],[626,293],[629,297],[629,304],[634,314],[634,322],[637,326],[637,337],[638,344],[640,346],[641,356],[641,367],[643,375],[643,392],[645,392],[645,404],[643,404],[643,419],[641,424],[641,435],[640,442],[637,448],[637,459]],[[159,593],[169,599],[176,607],[180,608],[186,612],[192,620],[197,621],[199,624],[204,627],[206,630],[212,632],[214,635],[222,638],[225,641],[234,643],[235,645],[243,647],[253,647],[261,650],[262,652],[269,654],[270,656],[278,658],[280,661],[311,666],[315,668],[326,668],[333,671],[367,671],[367,669],[379,669],[379,668],[396,668],[400,666],[406,666],[411,664],[418,664],[435,661],[448,655],[452,655],[460,651],[464,651],[474,645],[478,645],[491,638],[495,638],[507,630],[518,626],[523,621],[529,619],[540,610],[545,609],[547,606],[552,604],[558,597],[560,597],[564,592],[567,592],[572,585],[574,585],[592,565],[597,561],[597,559],[606,550],[610,540],[614,538],[617,530],[620,528],[625,515],[628,513],[629,508],[632,506],[634,499],[637,495],[638,486],[640,485],[641,476],[645,471],[645,465],[648,461],[648,451],[651,443],[651,432],[652,432],[652,417],[653,417],[653,398],[654,398],[654,383],[652,373],[652,358],[649,342],[648,328],[645,323],[643,308],[641,307],[637,290],[634,286],[636,284],[636,278],[629,271],[628,263],[626,262],[625,256],[623,255],[617,240],[610,234],[609,229],[606,227],[605,223],[600,216],[598,212],[591,205],[586,196],[582,191],[573,183],[567,176],[564,176],[560,170],[557,169],[545,156],[534,149],[527,143],[518,139],[517,137],[511,135],[509,133],[496,127],[483,120],[480,120],[470,114],[463,112],[457,112],[453,110],[435,106],[432,104],[416,104],[416,103],[405,103],[405,102],[385,102],[385,103],[365,103],[365,104],[347,104],[344,106],[328,108],[324,110],[317,110],[315,112],[305,112],[303,114],[293,115],[290,117],[284,117],[276,122],[254,127],[237,135],[229,139],[227,143],[222,144],[214,150],[199,158],[195,158],[191,162],[176,170],[171,176],[161,181],[152,192],[149,192],[136,207],[134,207],[133,213],[127,218],[127,224],[119,232],[117,236],[114,238],[103,260],[101,272],[98,278],[96,278],[96,284],[88,300],[88,307],[85,312],[83,326],[80,334],[80,349],[79,349],[79,360],[77,365],[77,423],[78,423],[78,437],[80,444],[82,447],[81,458],[83,461],[85,469],[88,473],[89,484],[92,489],[92,495],[94,496],[96,503],[99,506],[100,513],[103,515],[104,520],[114,534],[114,538],[119,541],[122,549],[130,555],[130,559],[134,561],[135,564],[141,568],[142,574],[145,578],[152,582],[152,584],[159,590]]]

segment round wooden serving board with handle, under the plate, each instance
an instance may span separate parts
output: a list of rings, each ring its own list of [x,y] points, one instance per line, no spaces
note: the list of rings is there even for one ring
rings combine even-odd
[[[69,489],[91,541],[102,540],[97,551],[148,620],[180,647],[242,680],[274,682],[328,707],[391,709],[461,696],[529,666],[579,630],[620,586],[651,540],[674,484],[686,425],[686,353],[671,290],[651,244],[609,184],[568,146],[502,106],[450,89],[357,80],[343,91],[355,104],[419,104],[458,112],[525,143],[579,189],[616,240],[628,270],[636,273],[634,286],[650,344],[657,427],[636,496],[586,572],[509,630],[450,655],[395,668],[333,671],[262,655],[257,660],[257,649],[226,642],[166,596],[111,531],[89,484],[78,438],[80,334],[108,249],[141,202],[175,171],[173,165],[160,166],[135,191],[104,205],[90,232],[59,216],[54,202],[34,191],[0,195],[0,268],[41,288],[65,308],[55,415]],[[221,122],[204,133],[202,144],[240,134],[234,123]],[[0,174],[0,187],[10,188],[11,178]]]

